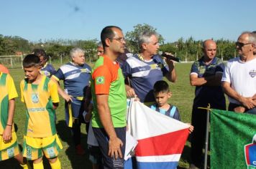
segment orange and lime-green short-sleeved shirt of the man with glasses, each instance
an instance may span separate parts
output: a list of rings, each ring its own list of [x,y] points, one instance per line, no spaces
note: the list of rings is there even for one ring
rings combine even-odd
[[[126,126],[127,96],[124,77],[117,62],[106,55],[99,57],[91,73],[91,93],[93,96],[92,127],[103,127],[96,106],[96,95],[109,95],[108,105],[114,127]]]

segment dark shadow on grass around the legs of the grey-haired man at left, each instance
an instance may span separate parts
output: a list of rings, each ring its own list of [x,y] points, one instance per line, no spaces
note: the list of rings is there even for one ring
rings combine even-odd
[[[85,127],[85,125],[82,124],[81,127]],[[61,141],[68,145],[68,148],[66,150],[63,148],[63,150],[65,150],[65,154],[68,156],[72,168],[91,168],[91,162],[88,160],[87,135],[81,133],[81,145],[86,150],[85,155],[76,155],[71,130],[65,124],[65,120],[58,121],[56,128]]]

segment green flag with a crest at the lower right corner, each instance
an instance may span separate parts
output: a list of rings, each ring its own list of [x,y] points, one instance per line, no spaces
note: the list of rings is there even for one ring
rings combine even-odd
[[[256,168],[256,115],[211,110],[210,139],[211,168]]]

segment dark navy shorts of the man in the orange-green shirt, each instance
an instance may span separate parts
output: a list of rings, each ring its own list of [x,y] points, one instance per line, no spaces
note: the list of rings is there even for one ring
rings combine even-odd
[[[122,140],[124,144],[121,148],[123,158],[111,158],[109,157],[109,137],[106,134],[104,128],[93,127],[93,132],[96,140],[99,143],[99,148],[101,150],[101,155],[103,159],[104,168],[124,168],[124,151],[125,151],[125,139],[126,139],[126,129],[127,127],[116,127],[116,136]]]

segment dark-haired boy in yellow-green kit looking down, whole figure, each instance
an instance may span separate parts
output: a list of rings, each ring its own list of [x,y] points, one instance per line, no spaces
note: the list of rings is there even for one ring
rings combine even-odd
[[[25,79],[20,83],[21,100],[27,107],[23,156],[33,160],[35,169],[43,168],[42,156],[51,168],[61,168],[58,153],[62,149],[55,128],[55,109],[59,97],[57,84],[40,74],[40,59],[29,54],[23,59]]]

